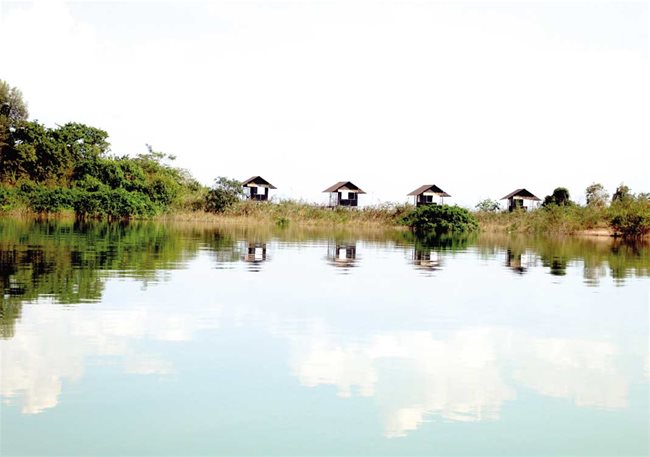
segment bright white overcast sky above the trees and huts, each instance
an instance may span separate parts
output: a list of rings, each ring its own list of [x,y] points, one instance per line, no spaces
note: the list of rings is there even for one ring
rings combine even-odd
[[[0,78],[31,119],[150,144],[206,185],[584,202],[650,191],[649,23],[648,2],[0,0]]]

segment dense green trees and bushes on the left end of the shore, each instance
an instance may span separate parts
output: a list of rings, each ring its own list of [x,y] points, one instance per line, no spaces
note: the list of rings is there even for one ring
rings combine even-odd
[[[151,146],[135,157],[113,156],[104,130],[27,121],[20,91],[3,81],[0,108],[0,210],[126,218],[203,208],[203,187]]]

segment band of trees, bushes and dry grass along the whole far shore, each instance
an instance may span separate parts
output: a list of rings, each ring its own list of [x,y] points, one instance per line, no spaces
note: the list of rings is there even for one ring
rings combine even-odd
[[[163,217],[204,221],[243,220],[278,227],[365,225],[411,227],[424,233],[484,231],[574,234],[601,230],[626,238],[650,232],[648,194],[619,186],[612,198],[602,185],[586,190],[587,204],[571,201],[559,187],[535,211],[502,212],[485,200],[468,212],[458,206],[415,208],[384,203],[358,209],[311,203],[245,201],[241,183],[219,177],[210,188],[174,157],[155,151],[134,156],[110,151],[108,133],[80,123],[48,128],[28,120],[15,87],[0,80],[0,214],[69,215],[77,219],[124,220]]]

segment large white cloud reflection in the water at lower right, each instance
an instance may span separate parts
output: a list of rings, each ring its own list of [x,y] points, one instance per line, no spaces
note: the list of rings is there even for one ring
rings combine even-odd
[[[432,415],[498,420],[520,388],[578,407],[624,408],[630,381],[616,352],[608,342],[479,327],[445,338],[420,331],[382,333],[361,344],[298,340],[292,369],[305,386],[333,385],[342,397],[377,397],[385,435],[401,437]]]

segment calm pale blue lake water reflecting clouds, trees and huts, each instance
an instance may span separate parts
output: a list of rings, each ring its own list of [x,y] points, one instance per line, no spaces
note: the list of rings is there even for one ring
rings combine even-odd
[[[0,220],[0,454],[648,455],[650,248]]]

